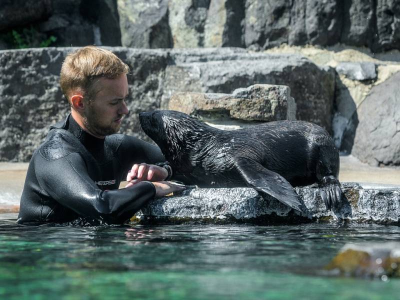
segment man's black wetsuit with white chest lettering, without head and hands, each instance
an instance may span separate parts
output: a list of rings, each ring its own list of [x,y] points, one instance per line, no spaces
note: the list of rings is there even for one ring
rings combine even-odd
[[[142,181],[118,189],[120,181],[134,163],[163,160],[156,146],[123,134],[96,138],[68,115],[33,153],[17,222],[123,223],[155,187]]]

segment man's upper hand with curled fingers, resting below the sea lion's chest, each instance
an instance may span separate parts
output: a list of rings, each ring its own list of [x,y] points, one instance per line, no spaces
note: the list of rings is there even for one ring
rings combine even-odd
[[[167,176],[168,176],[168,171],[163,167],[143,162],[140,164],[137,163],[133,164],[132,168],[130,169],[130,171],[126,176],[126,181],[133,184],[143,180],[162,181]]]

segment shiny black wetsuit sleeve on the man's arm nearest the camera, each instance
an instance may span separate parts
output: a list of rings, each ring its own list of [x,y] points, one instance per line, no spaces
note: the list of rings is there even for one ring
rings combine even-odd
[[[107,223],[123,223],[153,199],[155,187],[142,181],[128,188],[100,190],[89,177],[79,153],[55,160],[37,155],[36,176],[40,187],[54,200],[82,217],[100,218]]]

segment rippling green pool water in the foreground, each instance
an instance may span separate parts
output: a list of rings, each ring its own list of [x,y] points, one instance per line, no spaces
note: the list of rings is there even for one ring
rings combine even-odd
[[[398,299],[400,280],[324,275],[346,242],[400,227],[54,227],[0,215],[1,299]]]

